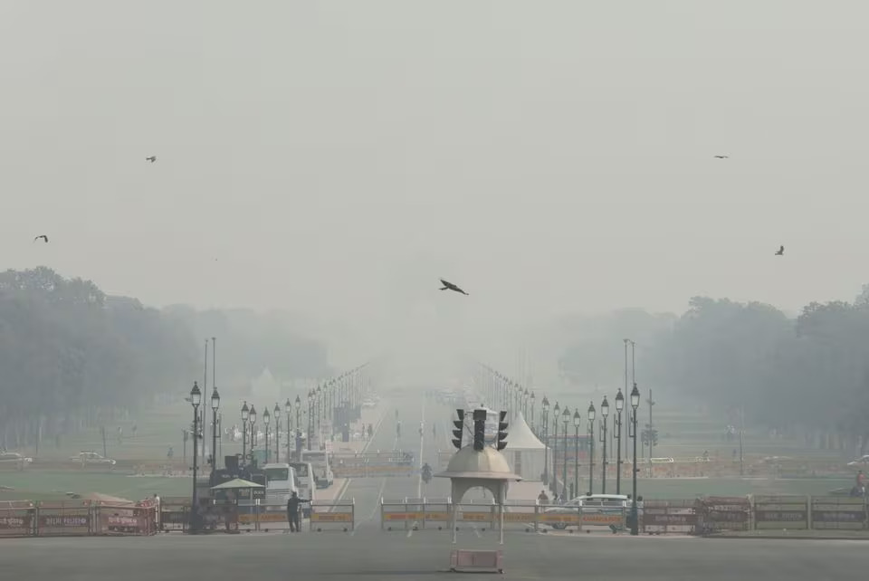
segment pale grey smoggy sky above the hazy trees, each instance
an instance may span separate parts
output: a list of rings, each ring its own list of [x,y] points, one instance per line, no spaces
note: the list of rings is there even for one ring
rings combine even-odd
[[[850,300],[867,23],[856,1],[5,0],[0,264],[300,312],[366,355],[694,295]]]

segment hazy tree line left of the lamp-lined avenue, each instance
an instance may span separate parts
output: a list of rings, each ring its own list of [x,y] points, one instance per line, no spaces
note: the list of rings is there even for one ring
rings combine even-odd
[[[183,395],[202,375],[202,340],[213,336],[227,379],[326,366],[325,349],[250,311],[157,310],[44,267],[0,273],[0,444],[34,443],[155,395]]]

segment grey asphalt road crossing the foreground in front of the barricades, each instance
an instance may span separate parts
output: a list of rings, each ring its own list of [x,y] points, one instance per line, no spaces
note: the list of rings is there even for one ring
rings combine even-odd
[[[0,563],[4,578],[29,581],[455,577],[445,572],[452,548],[448,535],[420,532],[408,538],[363,530],[352,537],[321,533],[5,539],[0,543]],[[460,538],[464,548],[481,545],[492,546],[486,538]],[[482,578],[837,581],[864,576],[867,548],[864,541],[511,533],[503,546],[505,575]]]

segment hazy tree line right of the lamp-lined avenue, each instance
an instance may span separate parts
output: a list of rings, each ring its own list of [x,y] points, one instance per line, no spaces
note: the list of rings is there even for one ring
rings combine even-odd
[[[678,318],[634,314],[633,329],[614,321],[625,323],[614,316],[565,350],[563,375],[620,385],[618,335],[635,338],[642,386],[711,405],[730,421],[741,409],[756,426],[836,433],[866,447],[869,291],[854,303],[809,304],[796,319],[757,302],[695,297]]]

